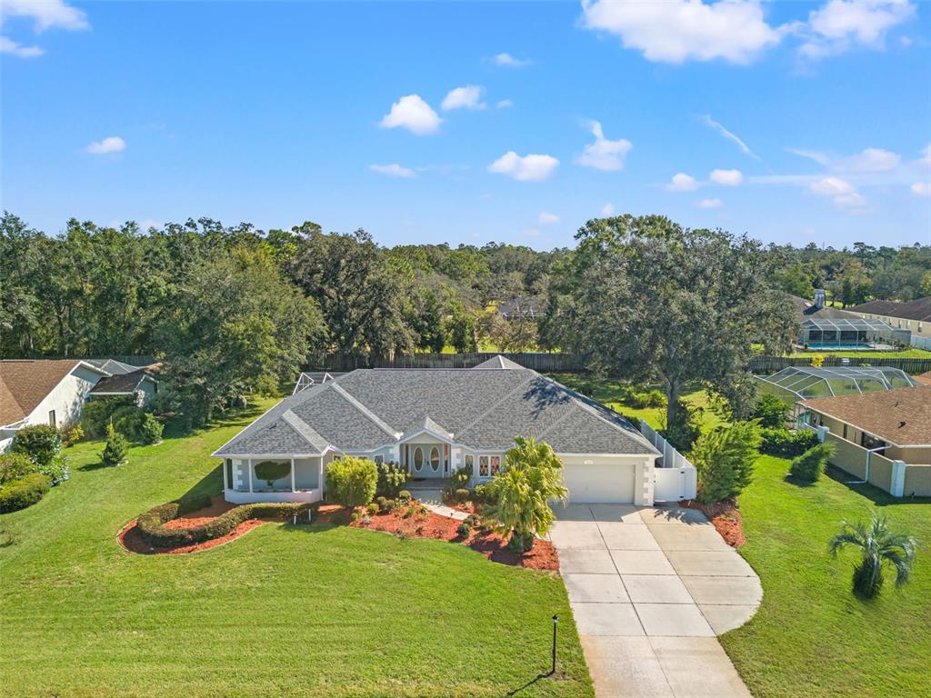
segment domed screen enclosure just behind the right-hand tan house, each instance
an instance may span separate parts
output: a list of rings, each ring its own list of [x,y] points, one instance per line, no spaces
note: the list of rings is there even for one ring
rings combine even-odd
[[[771,393],[789,403],[810,397],[873,393],[877,390],[908,388],[918,384],[902,369],[887,366],[791,366],[772,376],[754,378],[761,393]]]

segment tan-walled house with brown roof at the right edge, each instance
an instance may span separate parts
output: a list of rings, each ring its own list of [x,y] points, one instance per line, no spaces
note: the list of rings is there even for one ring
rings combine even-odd
[[[931,497],[931,387],[819,397],[801,419],[832,443],[830,463],[894,496]]]

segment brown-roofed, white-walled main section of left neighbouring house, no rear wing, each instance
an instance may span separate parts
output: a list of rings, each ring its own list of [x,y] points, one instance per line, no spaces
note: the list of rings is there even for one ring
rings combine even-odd
[[[24,426],[76,422],[90,391],[110,374],[88,361],[0,361],[0,451]]]

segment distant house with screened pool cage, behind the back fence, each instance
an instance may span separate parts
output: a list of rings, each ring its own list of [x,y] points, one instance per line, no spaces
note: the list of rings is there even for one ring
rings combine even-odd
[[[869,319],[850,311],[833,308],[826,302],[824,289],[815,290],[814,301],[791,296],[799,319],[796,343],[810,349],[869,349],[877,344],[908,344],[907,329],[896,329],[880,319]]]

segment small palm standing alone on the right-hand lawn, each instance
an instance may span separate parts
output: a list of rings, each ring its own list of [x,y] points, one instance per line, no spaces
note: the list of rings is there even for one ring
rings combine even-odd
[[[915,560],[918,542],[910,535],[889,530],[883,515],[873,515],[869,525],[843,522],[841,532],[830,539],[828,550],[837,557],[847,545],[857,548],[863,558],[854,568],[854,593],[859,597],[876,597],[883,588],[883,570],[887,565],[896,569],[896,586],[909,581],[911,564]]]

